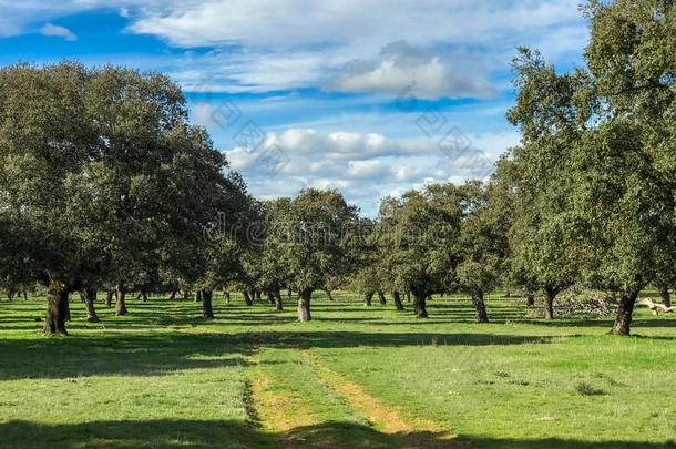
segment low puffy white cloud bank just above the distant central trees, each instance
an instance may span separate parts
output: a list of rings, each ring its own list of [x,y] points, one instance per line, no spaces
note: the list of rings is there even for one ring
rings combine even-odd
[[[372,215],[386,195],[430,182],[485,177],[496,155],[514,143],[511,134],[471,139],[471,150],[450,157],[439,150],[437,141],[427,137],[395,140],[377,133],[290,129],[267,134],[258,149],[234,147],[227,156],[256,196],[294,195],[307,186],[339,188]],[[483,144],[492,147],[479,150]],[[273,150],[284,154],[284,164],[270,166],[260,157]]]

